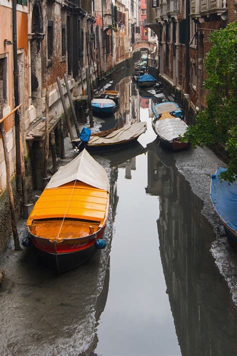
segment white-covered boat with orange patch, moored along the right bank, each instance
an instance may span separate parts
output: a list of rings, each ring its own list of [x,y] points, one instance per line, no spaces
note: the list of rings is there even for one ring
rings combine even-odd
[[[179,141],[179,136],[183,136],[188,127],[180,118],[162,113],[159,119],[152,122],[152,127],[166,148],[180,151],[189,147],[188,142]]]

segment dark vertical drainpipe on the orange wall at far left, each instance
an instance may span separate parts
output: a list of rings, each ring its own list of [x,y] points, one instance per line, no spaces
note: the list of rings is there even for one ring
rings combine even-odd
[[[12,0],[12,42],[13,42],[13,82],[14,82],[14,106],[19,105],[18,93],[18,65],[17,65],[17,33],[16,33],[16,0]],[[20,176],[20,127],[19,112],[15,111],[15,161],[16,161],[16,189],[21,190]]]

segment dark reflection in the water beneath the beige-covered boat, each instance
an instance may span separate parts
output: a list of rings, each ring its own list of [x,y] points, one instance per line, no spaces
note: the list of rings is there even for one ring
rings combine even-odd
[[[133,157],[142,155],[145,152],[146,148],[144,148],[138,141],[136,141],[132,146],[129,147],[129,149],[109,152],[106,157],[110,161],[110,167],[114,167],[126,162]]]

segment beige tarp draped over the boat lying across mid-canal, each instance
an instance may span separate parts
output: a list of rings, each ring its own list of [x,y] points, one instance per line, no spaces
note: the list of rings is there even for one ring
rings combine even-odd
[[[106,137],[90,136],[88,145],[115,144],[122,141],[131,140],[143,134],[146,131],[146,122],[137,122],[131,125],[125,125],[121,129],[111,132]]]

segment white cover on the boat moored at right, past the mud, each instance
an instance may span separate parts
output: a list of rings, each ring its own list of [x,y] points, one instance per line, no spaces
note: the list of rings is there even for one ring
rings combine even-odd
[[[163,140],[172,142],[173,139],[183,136],[187,125],[179,118],[157,120],[155,122],[155,132]]]

